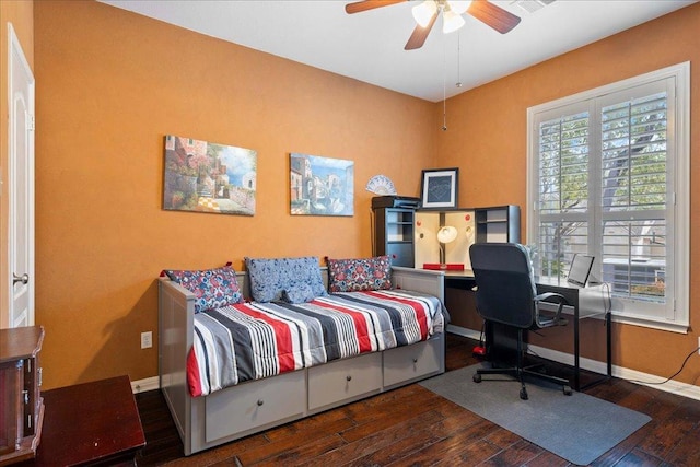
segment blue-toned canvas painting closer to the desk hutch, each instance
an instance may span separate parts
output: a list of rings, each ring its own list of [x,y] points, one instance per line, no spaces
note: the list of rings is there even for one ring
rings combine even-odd
[[[290,154],[291,213],[353,215],[354,162]]]

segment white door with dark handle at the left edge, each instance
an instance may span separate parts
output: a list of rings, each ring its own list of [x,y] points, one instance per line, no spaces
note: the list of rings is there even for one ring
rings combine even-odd
[[[9,323],[34,325],[34,75],[8,23]],[[3,325],[5,325],[3,323]]]

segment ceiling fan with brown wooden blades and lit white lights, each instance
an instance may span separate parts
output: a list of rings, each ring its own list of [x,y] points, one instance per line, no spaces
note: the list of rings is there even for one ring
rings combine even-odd
[[[360,13],[394,3],[402,3],[405,1],[409,0],[355,1],[346,4],[346,12],[348,14]],[[465,21],[462,17],[464,13],[470,14],[501,34],[508,33],[521,22],[518,16],[487,0],[425,0],[413,7],[412,12],[413,19],[418,24],[404,47],[406,50],[413,50],[423,46],[440,14],[442,14],[443,32],[445,34],[457,31],[464,26]]]

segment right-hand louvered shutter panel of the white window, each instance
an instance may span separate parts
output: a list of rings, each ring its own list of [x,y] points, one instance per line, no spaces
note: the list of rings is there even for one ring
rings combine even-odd
[[[632,98],[625,92],[600,100],[603,279],[616,296],[665,305],[673,289],[666,225],[674,211],[667,185],[674,87],[662,81],[632,91]]]

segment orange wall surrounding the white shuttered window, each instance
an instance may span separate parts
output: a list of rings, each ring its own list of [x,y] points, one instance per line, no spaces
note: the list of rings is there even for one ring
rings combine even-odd
[[[608,37],[590,46],[463,93],[448,103],[450,130],[438,139],[440,166],[460,166],[460,206],[520,205],[526,201],[527,108],[556,98],[691,61],[691,224],[700,220],[700,4]],[[439,115],[436,109],[435,114]],[[454,129],[454,131],[453,131]],[[502,129],[508,130],[508,137]],[[522,212],[526,242],[527,211]],[[690,275],[700,273],[700,243],[691,229]],[[669,376],[698,347],[700,315],[693,310],[700,290],[690,294],[691,331],[686,335],[614,325],[616,365]],[[453,312],[454,313],[454,312]],[[600,323],[583,329],[588,354],[599,355]],[[538,342],[535,337],[534,340]],[[698,384],[700,359],[693,358],[679,381]]]

